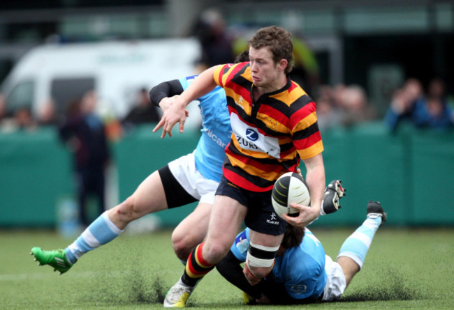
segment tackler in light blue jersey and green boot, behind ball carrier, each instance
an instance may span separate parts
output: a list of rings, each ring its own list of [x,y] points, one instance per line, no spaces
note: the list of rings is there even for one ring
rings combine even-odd
[[[249,57],[244,54],[237,60],[249,61]],[[173,96],[182,93],[194,78],[163,82],[152,88],[150,99],[165,111],[172,104]],[[213,104],[212,100],[218,103]],[[203,130],[196,150],[150,174],[129,198],[95,219],[66,249],[31,249],[39,265],[51,265],[62,274],[88,251],[117,238],[130,222],[149,213],[199,201],[172,235],[175,253],[182,261],[187,259],[193,247],[205,237],[214,193],[221,180],[224,148],[232,132],[223,88],[215,88],[198,101]]]

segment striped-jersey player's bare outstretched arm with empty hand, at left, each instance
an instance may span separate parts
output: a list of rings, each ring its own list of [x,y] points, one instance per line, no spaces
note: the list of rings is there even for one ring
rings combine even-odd
[[[159,121],[158,125],[154,127],[153,132],[156,132],[162,127],[163,132],[161,134],[161,138],[166,137],[166,134],[168,134],[169,137],[172,137],[172,128],[176,123],[180,123],[180,133],[184,131],[184,122],[186,121],[186,105],[192,100],[196,100],[206,93],[209,93],[214,87],[216,87],[216,83],[213,79],[214,70],[216,70],[216,66],[208,68],[202,72],[180,96],[175,98],[173,104],[166,111],[164,111],[161,121]]]

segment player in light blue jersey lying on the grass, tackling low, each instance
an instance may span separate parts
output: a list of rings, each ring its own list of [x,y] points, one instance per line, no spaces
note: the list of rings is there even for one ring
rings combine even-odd
[[[274,267],[258,284],[251,286],[240,263],[247,258],[249,228],[235,239],[227,256],[217,264],[219,272],[243,290],[248,304],[304,304],[338,300],[353,276],[363,267],[376,230],[386,221],[379,202],[369,201],[367,218],[344,241],[337,261],[325,255],[321,242],[307,228],[288,225]],[[304,237],[304,238],[303,238]]]

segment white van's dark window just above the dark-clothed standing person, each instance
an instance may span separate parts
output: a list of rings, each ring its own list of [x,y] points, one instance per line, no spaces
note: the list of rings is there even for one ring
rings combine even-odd
[[[71,102],[79,100],[87,92],[95,89],[94,77],[78,77],[71,79],[53,79],[50,94],[55,102],[57,114],[65,114]]]

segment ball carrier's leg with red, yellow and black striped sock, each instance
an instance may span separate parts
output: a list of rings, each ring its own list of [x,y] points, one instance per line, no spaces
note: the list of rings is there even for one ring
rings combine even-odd
[[[228,253],[247,208],[228,196],[216,196],[205,242],[189,254],[180,280],[170,288],[164,307],[184,307],[198,281]]]

